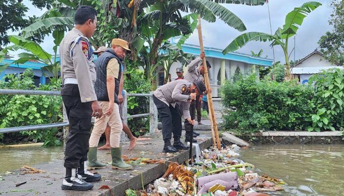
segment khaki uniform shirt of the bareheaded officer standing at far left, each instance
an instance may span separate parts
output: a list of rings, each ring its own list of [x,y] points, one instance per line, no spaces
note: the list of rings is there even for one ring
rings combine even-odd
[[[80,36],[84,38],[73,45]],[[87,38],[76,28],[66,34],[59,46],[62,84],[66,78],[76,78],[81,102],[97,100],[93,88],[96,80],[95,65],[93,55],[87,58],[89,51]]]

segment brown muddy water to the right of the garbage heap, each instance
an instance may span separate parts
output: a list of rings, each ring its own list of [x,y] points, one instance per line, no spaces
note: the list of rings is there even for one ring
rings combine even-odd
[[[264,145],[239,153],[258,174],[287,183],[271,196],[344,196],[344,145]]]

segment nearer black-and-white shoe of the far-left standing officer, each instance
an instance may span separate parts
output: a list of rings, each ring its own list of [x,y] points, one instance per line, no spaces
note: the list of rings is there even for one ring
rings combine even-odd
[[[75,191],[86,191],[93,188],[93,184],[85,182],[84,180],[78,177],[78,169],[71,168],[69,173],[72,173],[72,176],[65,177],[62,182],[62,190],[75,190]]]

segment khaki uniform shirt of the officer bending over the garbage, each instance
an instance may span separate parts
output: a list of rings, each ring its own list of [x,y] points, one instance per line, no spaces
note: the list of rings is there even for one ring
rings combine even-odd
[[[153,95],[166,103],[168,106],[175,107],[176,102],[182,106],[182,113],[185,119],[190,118],[190,103],[188,102],[189,98],[189,87],[190,82],[185,79],[174,80],[169,82],[157,90],[154,91]]]

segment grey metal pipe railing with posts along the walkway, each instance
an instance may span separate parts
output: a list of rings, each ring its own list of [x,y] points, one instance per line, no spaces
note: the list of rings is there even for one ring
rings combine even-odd
[[[49,96],[60,96],[60,91],[36,91],[36,90],[11,90],[11,89],[0,89],[0,95],[49,95]],[[156,106],[153,102],[153,94],[127,94],[125,92],[124,96],[124,110],[123,110],[123,117],[125,122],[129,118],[139,118],[139,117],[146,117],[149,116],[149,133],[153,133],[155,129],[158,128],[158,112]],[[135,115],[127,115],[127,98],[128,97],[149,97],[149,113],[145,114],[135,114]],[[94,121],[92,121],[94,123]],[[37,124],[37,125],[29,125],[29,126],[17,126],[17,127],[8,127],[8,128],[0,128],[0,133],[13,133],[19,131],[30,131],[36,129],[47,129],[53,127],[63,127],[63,136],[64,139],[67,137],[67,126],[69,125],[67,114],[65,112],[63,106],[63,122],[62,123],[49,123],[49,124]]]

